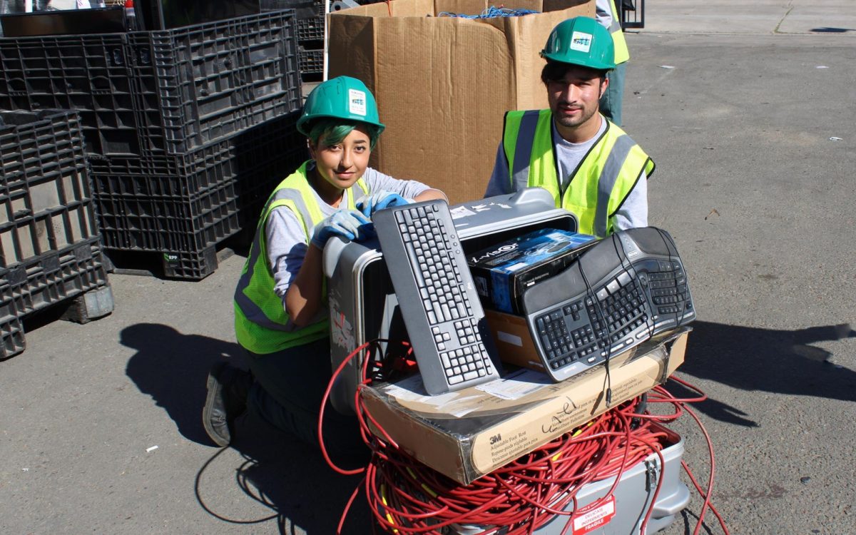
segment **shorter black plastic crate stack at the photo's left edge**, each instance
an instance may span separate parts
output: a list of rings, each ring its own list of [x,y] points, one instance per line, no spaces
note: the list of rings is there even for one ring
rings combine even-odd
[[[80,119],[0,111],[0,359],[24,350],[21,319],[74,298],[81,322],[113,310]]]

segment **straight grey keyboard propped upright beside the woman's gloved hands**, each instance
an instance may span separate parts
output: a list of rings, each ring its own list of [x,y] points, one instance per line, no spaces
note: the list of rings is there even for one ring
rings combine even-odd
[[[372,215],[401,318],[431,395],[499,377],[487,320],[442,200]]]

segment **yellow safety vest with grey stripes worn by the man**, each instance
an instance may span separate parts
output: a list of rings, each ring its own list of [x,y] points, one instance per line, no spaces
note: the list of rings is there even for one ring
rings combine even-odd
[[[556,206],[577,216],[579,232],[583,234],[611,234],[611,219],[642,172],[647,176],[654,172],[654,162],[642,148],[621,128],[607,122],[603,135],[591,146],[562,192],[550,110],[509,111],[505,114],[502,145],[512,190],[544,187],[553,194]]]

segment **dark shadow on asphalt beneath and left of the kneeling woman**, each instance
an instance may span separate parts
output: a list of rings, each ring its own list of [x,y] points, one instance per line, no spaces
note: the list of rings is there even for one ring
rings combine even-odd
[[[235,440],[230,448],[241,454],[226,462],[235,477],[227,479],[247,496],[247,500],[263,504],[270,514],[256,520],[236,520],[217,511],[215,504],[205,502],[204,496],[217,495],[207,491],[206,484],[223,484],[223,478],[206,479],[205,472],[212,463],[222,463],[222,450],[214,449],[202,426],[205,404],[205,379],[211,365],[218,360],[230,360],[242,366],[241,349],[235,343],[199,335],[185,335],[163,324],[135,324],[122,330],[122,345],[136,353],[128,360],[126,373],[140,392],[151,395],[158,407],[163,407],[175,422],[183,437],[195,443],[212,446],[211,458],[199,467],[196,496],[199,506],[225,523],[259,526],[263,532],[274,531],[276,523],[281,533],[306,532],[330,534],[336,526],[351,493],[360,484],[360,476],[339,475],[326,464],[317,450],[277,431],[253,416],[241,417],[236,423]],[[223,452],[225,453],[225,452]],[[341,462],[343,468],[360,464]],[[222,473],[218,464],[215,473]],[[319,506],[321,504],[321,506]],[[251,508],[256,510],[257,508]],[[372,533],[370,514],[365,497],[355,500],[348,514],[344,533]]]

